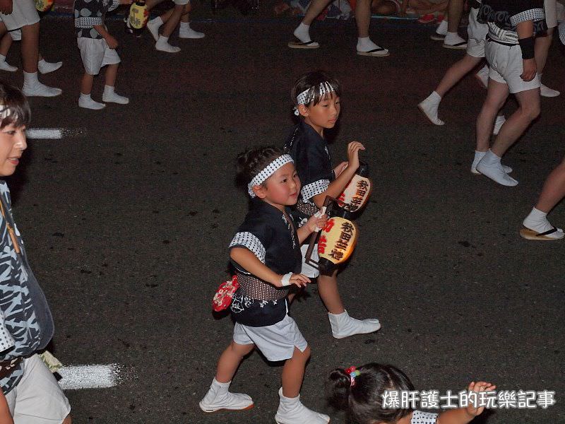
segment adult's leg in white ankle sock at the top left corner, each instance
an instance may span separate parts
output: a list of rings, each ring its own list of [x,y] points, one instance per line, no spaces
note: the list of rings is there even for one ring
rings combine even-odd
[[[23,64],[23,88],[25,95],[38,95],[53,97],[63,93],[60,88],[45,86],[37,79],[37,62],[39,60],[39,38],[40,23],[24,25],[22,28],[22,64]]]

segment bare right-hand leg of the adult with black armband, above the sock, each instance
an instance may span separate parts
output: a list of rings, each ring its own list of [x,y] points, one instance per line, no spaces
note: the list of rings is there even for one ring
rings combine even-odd
[[[490,85],[493,81],[489,81]],[[509,119],[501,127],[499,135],[496,136],[494,144],[492,145],[492,153],[500,158],[506,151],[516,143],[516,140],[524,134],[525,129],[537,118],[540,114],[540,89],[522,91],[516,93],[518,100],[518,110],[514,112]],[[491,127],[492,130],[492,127]]]

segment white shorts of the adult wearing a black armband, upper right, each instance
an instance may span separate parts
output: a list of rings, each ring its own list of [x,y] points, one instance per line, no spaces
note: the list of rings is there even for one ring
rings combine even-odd
[[[507,84],[510,93],[540,88],[539,75],[536,74],[532,81],[524,81],[521,78],[523,64],[520,45],[506,46],[489,41],[486,53],[490,66],[489,78],[497,83]]]

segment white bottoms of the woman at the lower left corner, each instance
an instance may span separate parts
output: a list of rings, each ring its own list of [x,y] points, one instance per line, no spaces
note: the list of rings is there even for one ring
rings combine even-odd
[[[37,355],[23,360],[23,377],[6,401],[14,424],[59,424],[71,413],[59,383]]]

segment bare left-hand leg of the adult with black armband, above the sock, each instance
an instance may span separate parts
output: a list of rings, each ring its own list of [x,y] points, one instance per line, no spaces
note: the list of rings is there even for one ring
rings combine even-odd
[[[489,150],[494,119],[500,108],[504,105],[504,102],[506,102],[508,95],[509,90],[506,84],[489,79],[487,98],[484,100],[482,109],[477,117],[477,146],[475,148],[477,151],[486,152]],[[504,128],[504,125],[502,128]],[[500,132],[502,132],[502,129]]]

